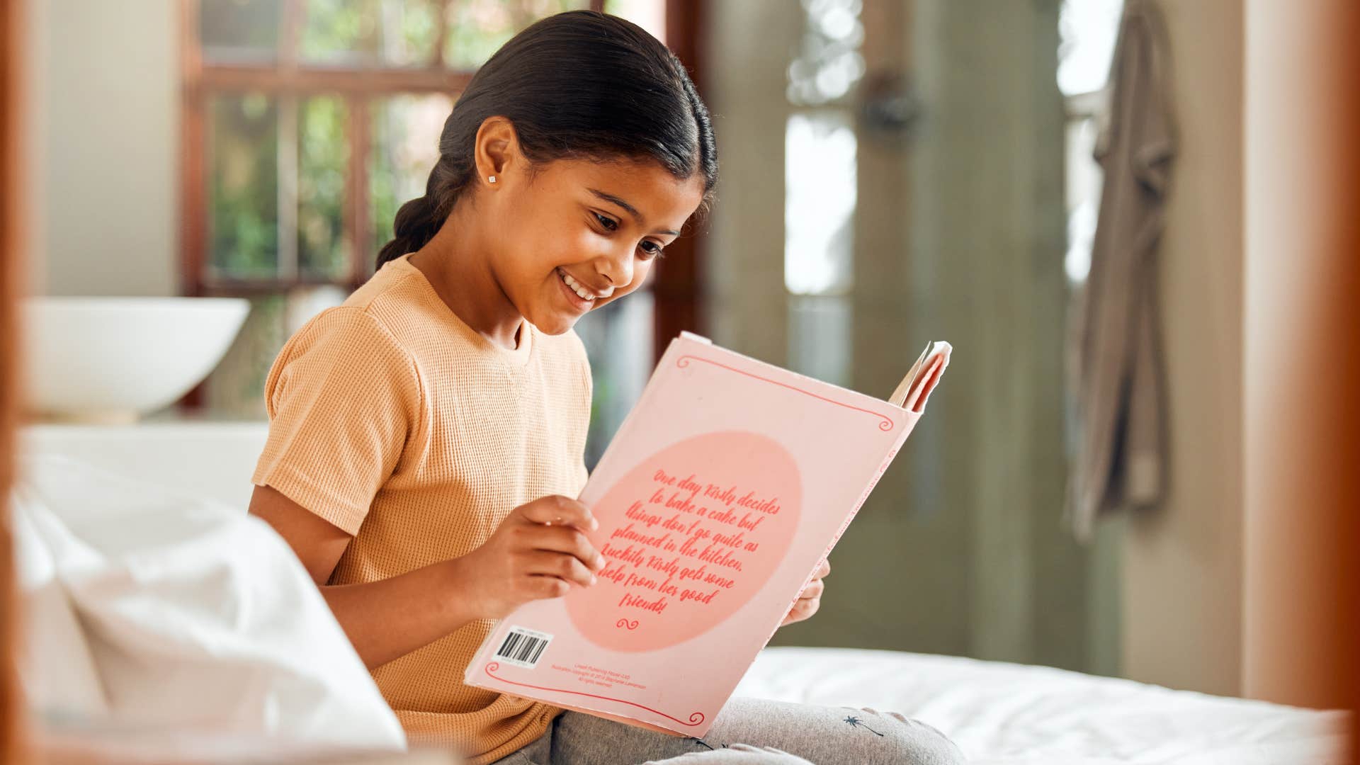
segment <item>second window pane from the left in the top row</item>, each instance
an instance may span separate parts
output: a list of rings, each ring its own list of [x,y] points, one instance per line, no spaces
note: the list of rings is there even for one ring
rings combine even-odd
[[[426,67],[445,0],[307,0],[305,61]]]

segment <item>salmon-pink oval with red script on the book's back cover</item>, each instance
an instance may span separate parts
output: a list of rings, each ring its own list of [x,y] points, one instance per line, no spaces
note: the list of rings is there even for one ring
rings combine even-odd
[[[654,476],[658,470],[673,476],[675,485],[657,482]],[[666,506],[672,498],[690,498],[692,489],[680,489],[684,481],[700,486],[694,494],[692,505],[704,508],[702,516],[680,506]],[[709,485],[718,487],[719,493],[736,487],[730,504],[724,498],[706,497],[704,490]],[[662,504],[650,502],[657,490],[664,494]],[[748,493],[752,502],[766,502],[766,508],[738,504]],[[607,550],[627,553],[631,547],[642,554],[642,565],[607,554],[607,565],[598,574],[600,580],[588,588],[574,588],[566,596],[571,623],[592,642],[613,651],[656,651],[709,632],[745,606],[774,574],[789,551],[793,532],[798,527],[801,500],[802,479],[798,463],[778,441],[759,433],[747,430],[706,433],[661,449],[634,466],[592,508],[597,516],[619,520],[611,528],[601,527],[593,532],[590,543],[601,553]],[[634,502],[642,502],[641,509],[646,515],[660,516],[662,521],[675,517],[683,527],[668,531],[664,523],[658,523],[649,528],[645,521],[628,519],[626,512]],[[710,513],[721,516],[729,508],[734,516],[730,524],[718,517],[709,517]],[[709,538],[698,540],[690,555],[681,554],[691,536],[687,530],[696,520],[699,521],[696,531],[710,528],[715,535],[740,532],[737,547]],[[741,528],[743,520],[755,524],[755,528]],[[641,536],[669,535],[666,539],[675,543],[675,550],[666,551],[662,549],[664,544],[657,547],[613,536],[616,531],[630,524],[631,531]],[[755,543],[756,550],[748,551],[747,543]],[[729,551],[730,555],[740,558],[741,569],[736,570],[718,561],[700,559],[699,555],[706,549],[719,554]],[[679,558],[676,565],[680,569],[702,568],[703,576],[698,580],[681,579],[681,570],[668,574],[647,565],[651,555],[661,558],[662,562]],[[616,570],[623,573],[619,581],[609,579],[611,572]],[[627,585],[630,573],[656,581],[657,589]],[[709,574],[729,579],[732,585],[722,587],[721,583],[704,581]],[[669,585],[676,587],[675,593],[661,591],[668,577]],[[700,595],[717,592],[707,603],[695,599],[681,600],[681,593],[687,589]],[[654,607],[657,602],[664,600],[664,607],[657,613],[635,604],[622,604],[626,593]]]

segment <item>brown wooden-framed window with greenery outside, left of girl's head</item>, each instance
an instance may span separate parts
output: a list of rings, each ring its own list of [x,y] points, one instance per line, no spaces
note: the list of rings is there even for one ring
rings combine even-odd
[[[476,67],[598,0],[190,0],[185,289],[362,283]]]

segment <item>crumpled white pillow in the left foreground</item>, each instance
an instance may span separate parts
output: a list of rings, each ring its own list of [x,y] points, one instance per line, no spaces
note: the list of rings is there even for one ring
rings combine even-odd
[[[16,525],[26,547],[45,547],[48,579],[79,615],[107,721],[405,749],[363,662],[269,524],[61,456],[29,455],[22,467]],[[58,611],[30,608],[30,644],[79,645]],[[76,664],[80,653],[72,649]],[[48,657],[29,670],[30,697],[49,719],[98,712],[87,671],[57,672]]]

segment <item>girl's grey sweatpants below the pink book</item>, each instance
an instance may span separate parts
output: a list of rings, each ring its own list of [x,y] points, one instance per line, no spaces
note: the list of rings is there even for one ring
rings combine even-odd
[[[494,765],[960,765],[959,747],[896,712],[732,697],[702,739],[567,709]]]

